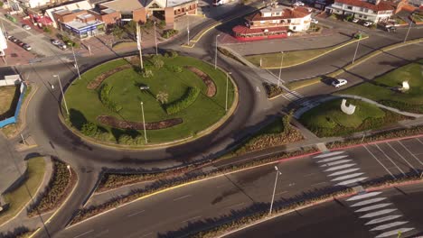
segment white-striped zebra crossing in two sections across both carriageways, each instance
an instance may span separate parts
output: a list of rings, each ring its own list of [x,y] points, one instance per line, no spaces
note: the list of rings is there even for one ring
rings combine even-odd
[[[368,178],[345,151],[322,153],[313,160],[335,187],[353,188]],[[375,238],[396,237],[399,233],[416,230],[381,191],[361,193],[346,199],[346,203],[360,220],[364,220]]]

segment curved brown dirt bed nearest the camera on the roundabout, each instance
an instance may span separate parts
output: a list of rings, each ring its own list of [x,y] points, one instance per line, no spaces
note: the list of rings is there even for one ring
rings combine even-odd
[[[101,124],[107,124],[108,126],[119,128],[119,129],[130,129],[130,130],[144,129],[143,123],[122,121],[122,120],[118,120],[116,117],[111,115],[99,115],[97,117],[97,121],[99,121],[99,123]],[[169,128],[174,125],[182,124],[182,123],[183,123],[182,118],[172,118],[172,119],[167,119],[160,122],[146,123],[146,130],[164,129],[164,128]]]

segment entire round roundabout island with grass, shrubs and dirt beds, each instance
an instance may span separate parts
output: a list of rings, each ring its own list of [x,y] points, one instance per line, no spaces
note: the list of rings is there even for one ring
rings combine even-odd
[[[227,114],[220,69],[176,52],[143,59],[144,69],[139,57],[116,59],[72,82],[65,93],[72,131],[108,144],[169,145],[210,132],[233,112],[237,89],[229,78]]]

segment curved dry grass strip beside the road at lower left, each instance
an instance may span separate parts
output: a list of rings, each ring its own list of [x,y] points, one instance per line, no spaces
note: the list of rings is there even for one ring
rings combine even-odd
[[[35,196],[35,192],[42,183],[45,172],[45,161],[42,157],[33,158],[27,161],[27,172],[24,181],[14,190],[4,194],[5,202],[9,207],[0,214],[0,224],[11,219],[30,201],[28,192]]]

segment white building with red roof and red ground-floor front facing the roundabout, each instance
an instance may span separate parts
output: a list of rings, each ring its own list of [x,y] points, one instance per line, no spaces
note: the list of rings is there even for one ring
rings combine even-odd
[[[289,32],[305,32],[310,28],[311,13],[304,7],[287,8],[270,5],[245,18],[245,25],[232,28],[239,41],[286,38]]]

